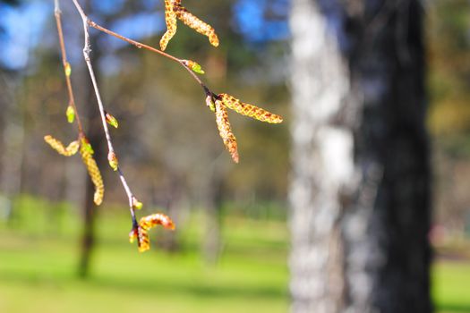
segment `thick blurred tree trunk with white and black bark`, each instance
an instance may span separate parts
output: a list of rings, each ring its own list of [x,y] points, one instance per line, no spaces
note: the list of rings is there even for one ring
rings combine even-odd
[[[423,7],[294,0],[293,312],[431,312]]]

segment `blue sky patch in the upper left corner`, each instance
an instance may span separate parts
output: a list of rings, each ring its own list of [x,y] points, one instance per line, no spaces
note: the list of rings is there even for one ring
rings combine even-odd
[[[10,70],[28,66],[31,50],[42,38],[43,26],[53,12],[53,3],[32,1],[12,7],[0,5],[0,27],[5,34],[0,49],[0,62]]]

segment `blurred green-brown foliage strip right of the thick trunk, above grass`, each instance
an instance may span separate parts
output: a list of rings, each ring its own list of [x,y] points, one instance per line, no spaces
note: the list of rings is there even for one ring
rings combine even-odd
[[[434,220],[460,237],[470,208],[470,3],[439,0],[426,9]]]

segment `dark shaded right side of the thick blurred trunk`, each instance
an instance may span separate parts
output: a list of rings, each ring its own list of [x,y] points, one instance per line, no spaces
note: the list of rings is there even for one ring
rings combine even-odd
[[[361,184],[368,183],[371,168],[379,168],[382,174],[375,199],[364,207],[353,206],[348,213],[371,211],[363,239],[372,257],[361,271],[372,277],[369,305],[380,312],[432,311],[431,171],[424,125],[421,5],[419,1],[399,1],[388,9],[366,6],[364,25],[371,25],[380,10],[388,13],[382,13],[384,22],[377,29],[363,30],[361,44],[350,58],[356,92],[363,96],[362,123],[355,134],[355,162],[364,173]],[[351,256],[356,241],[347,246]],[[348,283],[352,288],[356,285],[354,279]]]

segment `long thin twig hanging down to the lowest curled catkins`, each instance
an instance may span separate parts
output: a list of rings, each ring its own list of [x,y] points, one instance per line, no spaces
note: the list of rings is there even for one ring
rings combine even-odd
[[[99,108],[99,114],[101,114],[101,122],[103,124],[103,130],[105,131],[105,137],[107,140],[107,148],[108,148],[108,153],[109,154],[115,154],[115,149],[113,148],[113,141],[111,140],[111,135],[109,133],[109,129],[107,127],[107,120],[106,120],[106,113],[105,113],[105,108],[103,106],[103,101],[101,100],[101,95],[98,89],[98,82],[95,76],[95,71],[93,70],[93,65],[91,64],[90,60],[90,33],[88,31],[89,28],[89,18],[88,16],[83,12],[83,9],[81,8],[81,5],[78,3],[77,0],[73,0],[73,4],[75,4],[75,7],[77,8],[77,11],[80,13],[81,20],[83,21],[83,32],[85,36],[85,44],[83,47],[83,57],[85,58],[85,62],[87,63],[88,70],[90,72],[90,79],[93,84],[93,89],[95,90],[95,95],[98,100],[98,108]],[[127,194],[127,198],[129,199],[129,209],[131,211],[131,216],[132,216],[132,228],[135,229],[137,226],[137,220],[135,218],[135,209],[133,207],[134,199],[135,197],[132,194],[132,190],[129,187],[129,184],[126,182],[124,173],[117,165],[117,173],[119,174],[119,178],[121,179],[121,182],[123,184],[125,193]],[[139,240],[139,238],[138,238]]]

